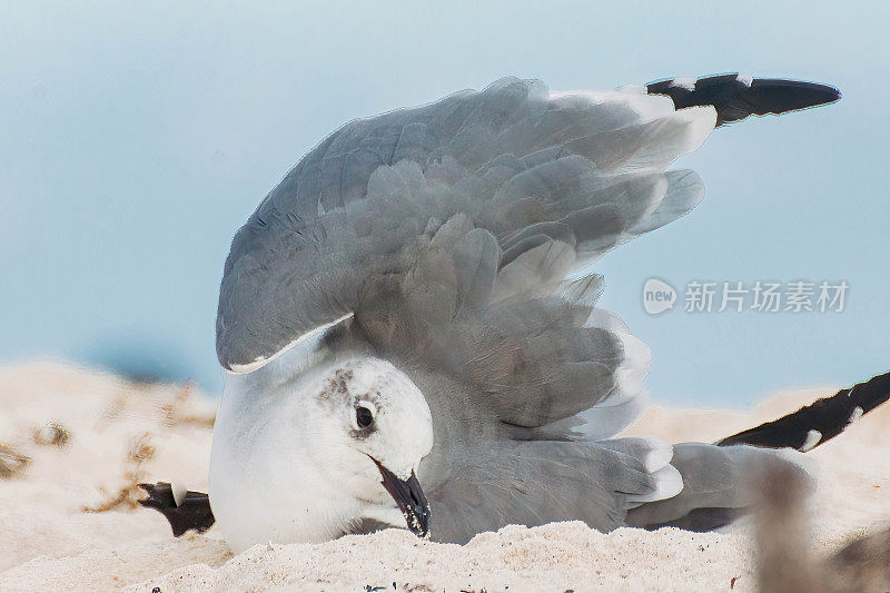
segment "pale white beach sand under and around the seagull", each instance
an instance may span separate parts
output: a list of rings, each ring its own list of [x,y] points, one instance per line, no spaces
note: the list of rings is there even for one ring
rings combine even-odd
[[[795,409],[831,387],[784,394],[750,412],[652,408],[632,429],[670,442],[714,441]],[[167,406],[167,407],[165,407]],[[582,523],[511,526],[466,546],[400,530],[322,545],[264,545],[233,557],[219,534],[175,540],[164,517],[131,508],[134,481],[207,486],[215,404],[181,386],[135,386],[52,363],[0,369],[0,447],[30,457],[0,480],[0,591],[752,591],[750,522],[720,533]],[[63,446],[39,444],[56,422]],[[890,406],[810,455],[818,553],[890,520]],[[154,447],[150,453],[146,446]],[[1,449],[9,452],[10,448]],[[135,457],[134,457],[135,455]],[[142,458],[141,463],[139,459]]]

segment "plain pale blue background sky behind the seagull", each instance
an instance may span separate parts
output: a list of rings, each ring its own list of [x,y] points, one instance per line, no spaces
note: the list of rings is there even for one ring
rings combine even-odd
[[[218,391],[237,227],[340,123],[505,76],[741,70],[834,106],[719,130],[705,201],[602,261],[657,402],[746,405],[890,367],[887,2],[12,2],[0,11],[0,363],[131,359]],[[646,278],[846,279],[841,314],[647,316]]]

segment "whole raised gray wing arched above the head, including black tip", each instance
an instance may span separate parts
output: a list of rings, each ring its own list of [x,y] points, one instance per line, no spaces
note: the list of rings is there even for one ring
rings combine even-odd
[[[719,121],[838,96],[738,76],[606,92],[506,78],[353,121],[233,240],[220,363],[257,368],[355,317],[375,347],[475,382],[510,424],[542,427],[606,399],[612,419],[633,415],[647,350],[594,315],[590,264],[701,200],[694,172],[665,169]]]

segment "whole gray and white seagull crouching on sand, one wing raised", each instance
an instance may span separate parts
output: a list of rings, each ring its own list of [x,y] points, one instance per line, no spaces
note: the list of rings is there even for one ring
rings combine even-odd
[[[236,552],[392,526],[464,543],[732,521],[758,501],[752,472],[809,475],[800,452],[890,379],[722,443],[619,437],[651,355],[596,307],[596,263],[701,201],[670,166],[715,128],[839,98],[734,73],[568,92],[504,78],[343,126],[231,243],[208,495],[158,483],[144,504],[179,533],[189,513],[216,521]]]

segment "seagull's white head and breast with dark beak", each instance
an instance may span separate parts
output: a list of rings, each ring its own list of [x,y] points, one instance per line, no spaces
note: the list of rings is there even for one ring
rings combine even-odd
[[[299,364],[288,354],[227,378],[209,495],[229,545],[319,542],[369,526],[426,536],[415,472],[433,424],[421,391],[386,360],[296,354]]]

